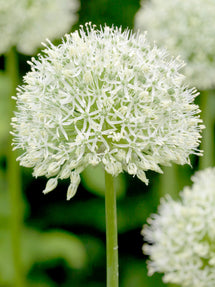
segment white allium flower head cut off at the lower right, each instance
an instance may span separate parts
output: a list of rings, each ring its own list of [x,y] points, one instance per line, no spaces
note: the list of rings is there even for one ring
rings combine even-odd
[[[149,275],[164,273],[164,282],[182,287],[215,286],[215,168],[192,177],[181,201],[161,201],[142,234],[150,255]]]

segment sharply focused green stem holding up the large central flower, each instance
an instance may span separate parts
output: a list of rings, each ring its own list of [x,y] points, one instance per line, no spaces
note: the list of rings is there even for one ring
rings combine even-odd
[[[107,172],[105,172],[105,185],[107,287],[118,287],[116,192],[114,190],[113,176]]]

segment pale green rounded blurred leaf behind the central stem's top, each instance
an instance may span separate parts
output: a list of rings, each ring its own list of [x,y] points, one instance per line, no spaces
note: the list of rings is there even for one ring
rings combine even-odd
[[[93,194],[105,196],[104,168],[101,165],[89,166],[82,172],[83,186]],[[115,179],[117,198],[123,198],[126,193],[126,183],[123,174],[119,174]]]

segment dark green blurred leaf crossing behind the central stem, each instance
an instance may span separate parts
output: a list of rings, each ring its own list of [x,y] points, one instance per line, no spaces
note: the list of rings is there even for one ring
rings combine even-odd
[[[141,228],[146,218],[154,212],[156,206],[153,191],[147,194],[125,197],[117,203],[118,232],[124,233],[132,229]],[[155,203],[154,203],[155,202]],[[81,210],[81,212],[80,212]],[[46,207],[44,226],[88,226],[105,232],[105,202],[95,198],[83,202],[73,202],[71,206],[52,204]],[[40,219],[38,219],[40,220]]]

